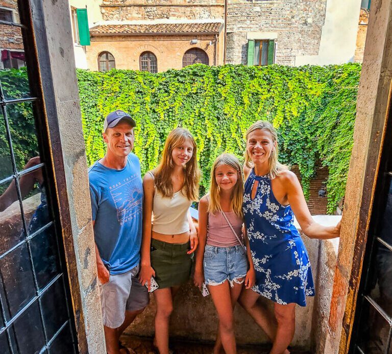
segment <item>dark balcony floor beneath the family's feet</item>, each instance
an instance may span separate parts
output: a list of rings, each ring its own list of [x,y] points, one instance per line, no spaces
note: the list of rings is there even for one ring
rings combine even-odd
[[[123,345],[129,348],[132,354],[155,354],[152,338],[124,335],[121,337]],[[185,342],[174,340],[170,347],[176,354],[211,354],[213,345],[206,343]],[[239,346],[238,354],[268,354],[270,346]],[[133,350],[133,351],[132,351]],[[291,354],[310,354],[308,351],[290,350]]]

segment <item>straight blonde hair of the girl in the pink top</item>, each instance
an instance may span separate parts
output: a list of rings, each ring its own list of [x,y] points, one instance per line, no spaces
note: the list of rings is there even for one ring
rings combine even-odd
[[[218,166],[222,166],[222,165],[228,165],[237,171],[237,183],[235,184],[232,190],[232,194],[230,198],[230,207],[234,213],[236,213],[240,218],[242,218],[242,197],[243,197],[242,170],[241,170],[241,164],[239,163],[239,160],[232,154],[219,155],[215,159],[214,164],[212,165],[208,212],[215,214],[216,212],[222,211],[222,207],[220,206],[219,186],[217,185],[215,179],[215,170]]]

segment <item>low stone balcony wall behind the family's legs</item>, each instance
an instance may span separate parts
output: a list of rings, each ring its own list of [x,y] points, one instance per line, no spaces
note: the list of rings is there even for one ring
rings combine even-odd
[[[340,216],[316,216],[316,221],[322,224],[336,224]],[[297,224],[298,227],[298,224]],[[331,241],[320,241],[309,239],[302,235],[305,246],[308,250],[312,267],[314,284],[316,287],[316,297],[307,297],[306,307],[297,307],[296,310],[296,334],[291,345],[306,350],[318,348],[321,344],[318,341],[318,334],[325,331],[325,318],[329,309],[328,294],[331,294],[332,279],[336,259],[336,244],[331,247]],[[320,250],[323,250],[322,259],[319,259]],[[328,262],[325,262],[328,260]],[[136,336],[154,335],[154,313],[156,305],[154,296],[150,296],[151,304],[142,315],[138,316],[134,323],[128,327],[126,334]],[[260,304],[273,313],[273,302],[260,297]],[[318,306],[322,305],[320,309]],[[321,313],[322,311],[322,313]],[[235,309],[236,340],[238,344],[265,344],[269,340],[263,331],[256,325],[250,316],[237,306]],[[315,327],[316,316],[318,327]],[[322,320],[321,320],[322,319]],[[183,338],[192,341],[215,340],[217,328],[217,315],[213,306],[211,296],[203,297],[200,291],[195,288],[191,281],[183,286],[174,302],[174,312],[170,319],[170,336]],[[317,332],[316,332],[317,331]],[[313,352],[313,351],[312,351]]]

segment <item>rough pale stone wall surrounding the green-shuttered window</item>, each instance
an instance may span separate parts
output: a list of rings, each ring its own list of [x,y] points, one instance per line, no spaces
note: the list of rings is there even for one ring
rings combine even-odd
[[[247,63],[247,32],[277,34],[277,64],[295,65],[298,55],[317,55],[326,3],[327,0],[230,0],[226,62]]]

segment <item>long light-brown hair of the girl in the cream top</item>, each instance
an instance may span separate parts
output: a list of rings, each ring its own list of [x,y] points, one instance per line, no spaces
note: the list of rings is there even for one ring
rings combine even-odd
[[[199,179],[200,171],[197,161],[197,146],[192,134],[187,129],[176,128],[172,130],[166,138],[165,146],[162,151],[162,158],[158,167],[154,170],[155,185],[157,190],[164,196],[173,197],[173,183],[171,183],[171,173],[173,172],[174,163],[171,157],[173,149],[181,145],[186,139],[189,139],[193,145],[193,153],[190,160],[184,167],[184,185],[183,193],[189,200],[199,199]]]

